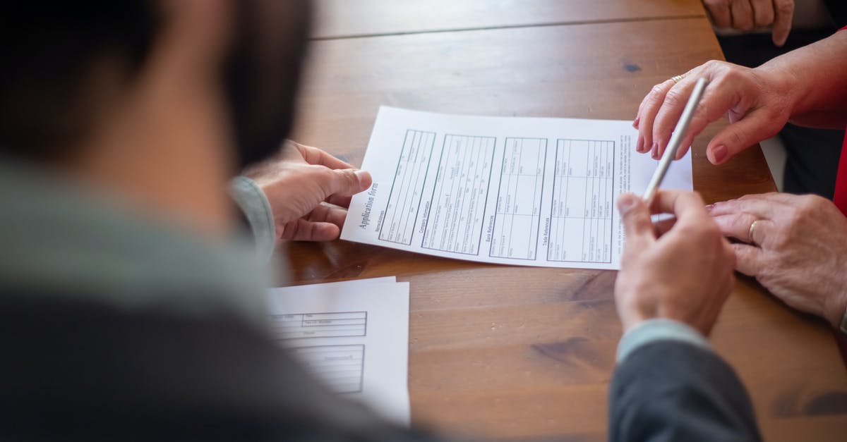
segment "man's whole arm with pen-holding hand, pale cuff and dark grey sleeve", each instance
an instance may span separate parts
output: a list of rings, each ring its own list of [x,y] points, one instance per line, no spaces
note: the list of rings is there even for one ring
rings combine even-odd
[[[734,255],[699,196],[663,191],[652,224],[618,201],[626,230],[615,301],[625,334],[609,398],[610,440],[760,440],[744,386],[706,336],[734,283]],[[662,231],[663,230],[663,231]]]

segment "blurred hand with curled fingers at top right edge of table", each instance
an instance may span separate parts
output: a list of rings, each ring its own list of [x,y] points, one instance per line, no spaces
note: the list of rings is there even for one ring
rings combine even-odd
[[[718,28],[755,30],[773,25],[773,44],[783,46],[794,19],[794,0],[703,0]]]

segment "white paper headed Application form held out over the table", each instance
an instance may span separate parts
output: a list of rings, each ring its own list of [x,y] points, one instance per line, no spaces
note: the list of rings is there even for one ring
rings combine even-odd
[[[620,268],[615,201],[658,162],[629,121],[379,108],[341,239],[478,262]],[[690,191],[690,154],[663,189]]]

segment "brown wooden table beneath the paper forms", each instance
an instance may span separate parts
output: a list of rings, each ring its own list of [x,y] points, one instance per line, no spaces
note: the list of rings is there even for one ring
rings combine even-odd
[[[381,104],[632,119],[650,86],[722,58],[697,0],[489,3],[318,2],[293,138],[361,163]],[[695,189],[707,202],[773,191],[757,147],[722,167],[707,163],[716,130],[694,148]],[[615,272],[484,265],[344,241],[285,248],[296,284],[411,282],[414,424],[486,439],[606,439],[621,334]],[[711,340],[745,381],[768,440],[847,437],[847,372],[823,323],[739,278]]]

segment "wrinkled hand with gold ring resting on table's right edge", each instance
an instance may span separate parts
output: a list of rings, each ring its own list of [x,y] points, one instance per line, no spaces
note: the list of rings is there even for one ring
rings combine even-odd
[[[847,218],[820,196],[742,196],[711,207],[734,244],[739,272],[774,296],[838,326],[847,307]],[[750,224],[756,221],[750,238]]]

